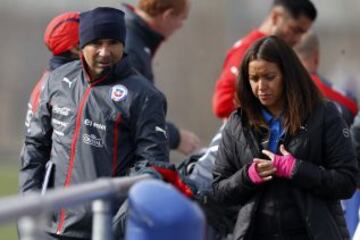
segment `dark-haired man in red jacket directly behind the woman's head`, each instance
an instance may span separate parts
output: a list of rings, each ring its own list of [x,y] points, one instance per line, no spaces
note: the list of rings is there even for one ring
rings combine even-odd
[[[235,109],[235,85],[238,68],[244,53],[256,40],[276,35],[293,46],[316,19],[317,11],[309,0],[274,0],[271,10],[258,29],[237,41],[229,50],[216,82],[213,95],[213,112],[221,119]]]

